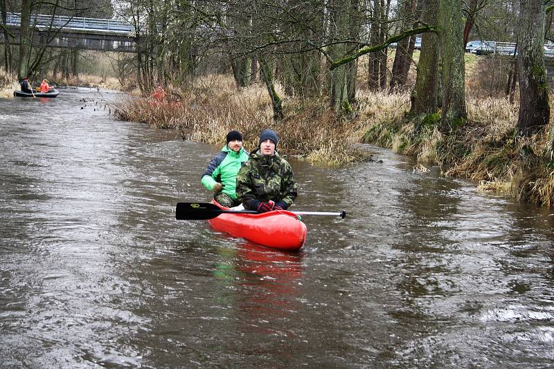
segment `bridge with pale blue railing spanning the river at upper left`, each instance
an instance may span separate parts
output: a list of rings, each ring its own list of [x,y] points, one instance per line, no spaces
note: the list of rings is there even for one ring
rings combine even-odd
[[[19,44],[21,13],[8,13],[6,27],[16,37],[10,44]],[[134,25],[125,20],[66,17],[62,15],[31,15],[33,44],[54,48],[134,53],[138,36]],[[0,43],[6,40],[0,37]]]

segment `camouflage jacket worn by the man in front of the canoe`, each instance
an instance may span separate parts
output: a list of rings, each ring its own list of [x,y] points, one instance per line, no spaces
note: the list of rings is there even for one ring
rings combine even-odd
[[[287,160],[275,155],[251,153],[237,175],[237,198],[246,209],[253,209],[252,200],[285,201],[291,205],[296,198],[296,180]]]

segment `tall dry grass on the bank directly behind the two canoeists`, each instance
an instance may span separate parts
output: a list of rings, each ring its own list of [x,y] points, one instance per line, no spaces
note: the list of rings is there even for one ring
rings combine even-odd
[[[281,86],[276,89],[284,95]],[[361,128],[357,121],[352,124],[337,119],[326,101],[302,102],[288,97],[285,101],[287,115],[274,122],[264,85],[237,88],[231,76],[210,75],[163,102],[136,97],[118,102],[116,115],[121,120],[177,129],[184,139],[209,144],[223,145],[226,133],[236,129],[249,150],[258,147],[260,132],[271,128],[279,136],[279,153],[301,155],[313,162],[342,164],[363,156],[351,145],[355,131]]]

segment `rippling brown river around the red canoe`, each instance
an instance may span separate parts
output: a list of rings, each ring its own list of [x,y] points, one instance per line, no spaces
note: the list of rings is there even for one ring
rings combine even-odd
[[[94,89],[0,99],[2,368],[546,368],[554,212],[375,161],[291,159],[297,254],[175,220],[220,147]]]

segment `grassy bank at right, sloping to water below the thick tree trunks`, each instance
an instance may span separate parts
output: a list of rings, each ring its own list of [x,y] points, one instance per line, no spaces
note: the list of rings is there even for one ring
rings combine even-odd
[[[480,191],[552,207],[554,124],[540,135],[521,138],[518,110],[501,98],[468,98],[468,121],[448,133],[439,131],[438,115],[405,115],[370,124],[363,141],[413,155],[424,165],[438,164],[446,176],[478,181]]]

